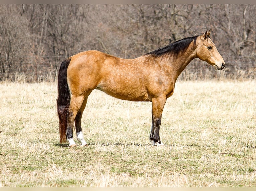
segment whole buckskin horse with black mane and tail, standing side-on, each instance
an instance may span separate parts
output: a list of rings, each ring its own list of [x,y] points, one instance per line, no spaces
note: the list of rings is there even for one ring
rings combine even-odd
[[[60,143],[73,140],[75,123],[77,140],[84,140],[81,118],[87,99],[94,89],[115,98],[152,102],[152,126],[149,140],[160,146],[160,125],[166,99],[174,92],[175,82],[195,58],[222,70],[225,62],[210,38],[211,29],[183,38],[138,58],[123,59],[97,50],[88,50],[63,60],[58,73],[57,113]]]

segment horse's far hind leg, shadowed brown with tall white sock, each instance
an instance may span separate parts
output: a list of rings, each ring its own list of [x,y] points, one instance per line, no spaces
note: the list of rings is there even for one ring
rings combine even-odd
[[[85,99],[83,101],[83,104],[82,104],[81,108],[79,109],[79,111],[78,111],[78,113],[75,117],[75,127],[76,127],[77,140],[81,143],[81,146],[87,146],[87,143],[84,140],[84,135],[82,133],[81,118],[82,118],[83,111],[84,111],[86,103],[87,103],[87,98],[90,95],[90,93],[85,97]]]

